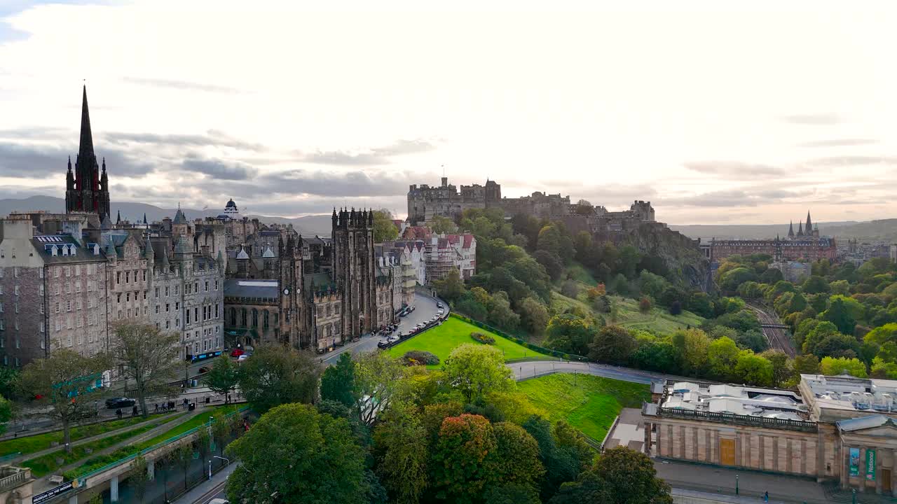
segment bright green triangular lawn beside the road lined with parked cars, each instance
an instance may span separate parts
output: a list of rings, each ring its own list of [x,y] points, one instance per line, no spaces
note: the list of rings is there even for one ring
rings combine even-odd
[[[441,326],[433,327],[429,331],[423,332],[421,335],[414,336],[408,341],[399,343],[390,348],[388,352],[389,355],[392,355],[393,357],[401,357],[409,350],[425,350],[440,358],[439,365],[428,367],[438,368],[448,358],[448,354],[450,354],[452,350],[455,350],[459,344],[483,344],[475,342],[475,340],[470,337],[470,334],[473,332],[491,335],[495,338],[494,346],[504,353],[505,361],[529,357],[547,357],[544,353],[528,349],[521,344],[514,343],[500,335],[493,334],[455,317],[448,317]]]

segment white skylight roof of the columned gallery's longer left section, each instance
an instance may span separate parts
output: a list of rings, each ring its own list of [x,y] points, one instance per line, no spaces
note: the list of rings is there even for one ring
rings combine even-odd
[[[687,381],[668,387],[668,394],[660,407],[797,421],[806,420],[807,416],[806,405],[795,392]]]

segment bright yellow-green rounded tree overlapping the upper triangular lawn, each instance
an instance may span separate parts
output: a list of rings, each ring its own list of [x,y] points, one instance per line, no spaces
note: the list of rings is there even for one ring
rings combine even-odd
[[[468,403],[482,398],[486,392],[504,392],[514,387],[513,373],[504,365],[501,352],[490,345],[458,346],[446,359],[445,373],[448,382]]]

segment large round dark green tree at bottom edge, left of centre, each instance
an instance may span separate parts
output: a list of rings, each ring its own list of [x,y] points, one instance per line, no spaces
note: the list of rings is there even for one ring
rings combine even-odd
[[[231,502],[365,502],[365,453],[349,422],[308,404],[274,407],[226,451],[241,463],[227,481]]]

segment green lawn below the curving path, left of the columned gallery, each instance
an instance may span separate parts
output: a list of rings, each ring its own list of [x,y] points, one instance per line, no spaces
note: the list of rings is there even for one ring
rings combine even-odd
[[[527,379],[518,388],[551,421],[567,421],[599,443],[620,410],[640,408],[651,397],[647,385],[568,373]]]

